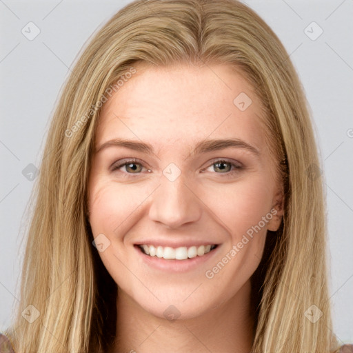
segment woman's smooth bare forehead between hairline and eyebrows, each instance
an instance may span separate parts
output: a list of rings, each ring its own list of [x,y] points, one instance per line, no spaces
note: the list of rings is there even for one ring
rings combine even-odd
[[[123,137],[160,150],[207,138],[238,138],[261,149],[261,101],[232,66],[134,68],[137,73],[103,106],[96,145]]]

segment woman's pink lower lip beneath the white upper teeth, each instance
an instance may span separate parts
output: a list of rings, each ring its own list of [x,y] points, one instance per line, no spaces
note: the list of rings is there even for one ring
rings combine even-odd
[[[159,258],[157,256],[146,255],[141,251],[141,248],[138,245],[134,245],[134,248],[137,251],[137,254],[141,256],[141,259],[143,260],[144,263],[146,263],[152,268],[156,268],[157,270],[163,270],[163,271],[169,271],[169,272],[188,272],[188,271],[194,270],[198,266],[205,263],[205,261],[212,259],[214,257],[214,254],[218,252],[219,247],[220,246],[217,245],[215,249],[211,250],[207,254],[204,254],[203,256],[196,256],[196,257],[193,257],[192,259],[166,260],[166,259],[163,259],[163,257]]]

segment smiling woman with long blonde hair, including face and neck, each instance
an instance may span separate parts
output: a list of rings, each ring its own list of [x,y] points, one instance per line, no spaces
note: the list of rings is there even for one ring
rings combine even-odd
[[[54,113],[14,352],[350,352],[305,104],[242,3],[118,12]]]

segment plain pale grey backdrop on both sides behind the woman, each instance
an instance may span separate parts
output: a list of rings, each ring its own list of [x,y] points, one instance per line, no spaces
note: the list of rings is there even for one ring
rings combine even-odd
[[[59,90],[85,41],[129,2],[0,0],[0,330],[19,301],[23,214]],[[327,194],[334,332],[352,343],[353,1],[246,3],[283,42],[310,103]]]

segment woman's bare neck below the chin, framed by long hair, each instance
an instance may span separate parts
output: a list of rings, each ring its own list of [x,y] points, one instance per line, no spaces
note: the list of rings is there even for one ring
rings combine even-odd
[[[248,353],[254,339],[250,281],[230,300],[192,319],[154,316],[121,290],[117,295],[117,338],[111,353]]]

